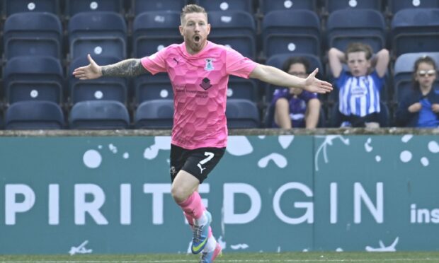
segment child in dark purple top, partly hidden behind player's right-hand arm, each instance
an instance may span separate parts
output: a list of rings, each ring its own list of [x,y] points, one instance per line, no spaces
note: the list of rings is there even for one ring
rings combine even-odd
[[[283,71],[306,78],[309,62],[304,57],[290,57],[283,64]],[[319,122],[320,100],[317,93],[301,88],[278,88],[275,90],[270,107],[274,107],[272,127],[282,129],[314,129]]]

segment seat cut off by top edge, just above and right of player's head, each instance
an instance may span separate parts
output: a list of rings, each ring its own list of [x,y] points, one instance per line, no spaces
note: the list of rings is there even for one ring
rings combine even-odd
[[[210,11],[244,11],[253,13],[252,0],[195,0],[195,4]]]

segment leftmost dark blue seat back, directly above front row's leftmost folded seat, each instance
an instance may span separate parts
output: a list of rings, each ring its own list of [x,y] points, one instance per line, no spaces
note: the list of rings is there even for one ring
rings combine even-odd
[[[63,86],[61,62],[54,57],[13,57],[4,68],[8,104],[21,100],[48,100],[62,104]]]

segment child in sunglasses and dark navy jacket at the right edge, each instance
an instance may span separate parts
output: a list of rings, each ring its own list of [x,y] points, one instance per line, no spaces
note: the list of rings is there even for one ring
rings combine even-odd
[[[431,57],[416,59],[413,89],[399,102],[396,120],[401,127],[439,127],[439,92],[433,88],[437,67]]]

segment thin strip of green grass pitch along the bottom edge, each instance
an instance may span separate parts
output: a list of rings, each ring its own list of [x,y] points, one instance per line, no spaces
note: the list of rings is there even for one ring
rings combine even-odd
[[[0,255],[0,262],[198,262],[197,255]],[[215,262],[439,262],[439,252],[227,253]]]

